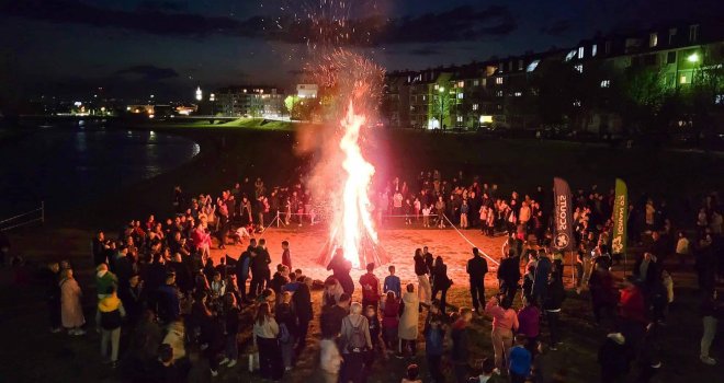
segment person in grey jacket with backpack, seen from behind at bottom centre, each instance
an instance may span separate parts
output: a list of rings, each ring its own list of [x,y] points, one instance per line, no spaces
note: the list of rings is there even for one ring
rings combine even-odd
[[[350,313],[342,320],[340,332],[340,345],[342,349],[342,382],[362,382],[364,380],[364,357],[367,350],[372,350],[370,338],[370,323],[362,315],[362,305],[353,302]]]

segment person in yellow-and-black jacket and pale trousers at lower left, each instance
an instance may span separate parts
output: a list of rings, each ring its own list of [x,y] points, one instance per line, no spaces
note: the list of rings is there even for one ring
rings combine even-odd
[[[121,344],[121,325],[126,311],[123,303],[116,294],[116,288],[109,286],[103,299],[98,302],[95,312],[95,323],[101,332],[101,357],[109,357],[109,346],[111,347],[110,361],[111,367],[115,368],[118,363],[118,346]]]

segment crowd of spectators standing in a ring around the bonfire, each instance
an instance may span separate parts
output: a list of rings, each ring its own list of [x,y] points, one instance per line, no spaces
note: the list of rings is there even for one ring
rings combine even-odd
[[[451,182],[437,171],[420,173],[412,192],[395,178],[375,192],[373,211],[378,222],[401,218],[405,224],[507,235],[494,278],[486,279],[487,256],[473,248],[465,268],[468,307],[448,304],[453,280],[445,259],[427,246],[415,251],[417,279],[409,283],[395,275],[395,266],[388,266],[381,279],[381,265],[374,264],[366,265],[366,274],[355,282],[352,265],[339,249],[327,267],[331,275],[314,281],[293,268],[289,242],[279,244],[282,262],[271,265],[264,239],[257,240],[254,233],[275,217],[283,224],[314,224],[317,205],[301,184],[268,190],[261,179],[245,179],[216,199],[189,198],[177,188],[173,217],[131,221],[113,240],[99,231],[93,240],[92,324],[83,316],[81,288],[70,263],[50,264],[53,332],[65,328],[82,336],[94,325],[101,334],[101,356],[138,382],[216,376],[240,361],[244,333],[250,332],[245,367],[279,381],[307,349],[310,323],[318,316],[319,368],[326,382],[364,382],[374,364],[391,358],[411,362],[400,372],[403,382],[421,376],[444,382],[448,364],[455,382],[540,382],[539,357],[555,352],[565,339],[562,310],[567,293],[563,254],[551,246],[551,198],[542,187],[529,195],[504,196],[497,185],[464,179],[462,173]],[[632,361],[640,362],[642,382],[660,368],[659,328],[674,301],[672,262],[665,260],[674,256],[674,263],[685,267],[695,263],[703,297],[700,359],[715,364],[709,349],[722,310],[716,281],[724,275],[716,196],[706,197],[692,232],[672,227],[664,202],[643,198],[632,204],[630,237],[644,251],[632,275],[620,283],[612,268],[622,259],[610,253],[612,201],[612,192],[600,193],[596,186],[579,190],[574,213],[574,291],[589,290],[592,317],[608,334],[599,350],[601,380],[615,382],[630,374]],[[214,264],[212,246],[229,243],[246,247],[238,257],[226,255]],[[321,290],[317,303],[312,299],[315,289]],[[486,295],[486,290],[496,293]],[[493,323],[489,355],[472,351],[471,323],[480,317]],[[427,372],[417,363],[420,353]],[[482,361],[471,363],[474,358]]]

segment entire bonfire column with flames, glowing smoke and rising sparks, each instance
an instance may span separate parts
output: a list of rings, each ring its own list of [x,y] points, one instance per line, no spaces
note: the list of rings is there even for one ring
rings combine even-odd
[[[326,264],[341,249],[353,267],[367,263],[385,264],[386,253],[378,246],[372,220],[369,193],[375,166],[365,159],[362,142],[377,115],[384,70],[371,59],[346,48],[354,36],[349,30],[352,2],[325,1],[305,7],[310,59],[309,73],[324,94],[323,109],[335,125],[335,132],[324,136],[321,158],[307,177],[313,197],[324,206],[329,221],[329,236],[319,263]],[[351,35],[352,34],[352,35]],[[372,119],[371,119],[372,117]],[[318,204],[317,204],[318,206]]]

